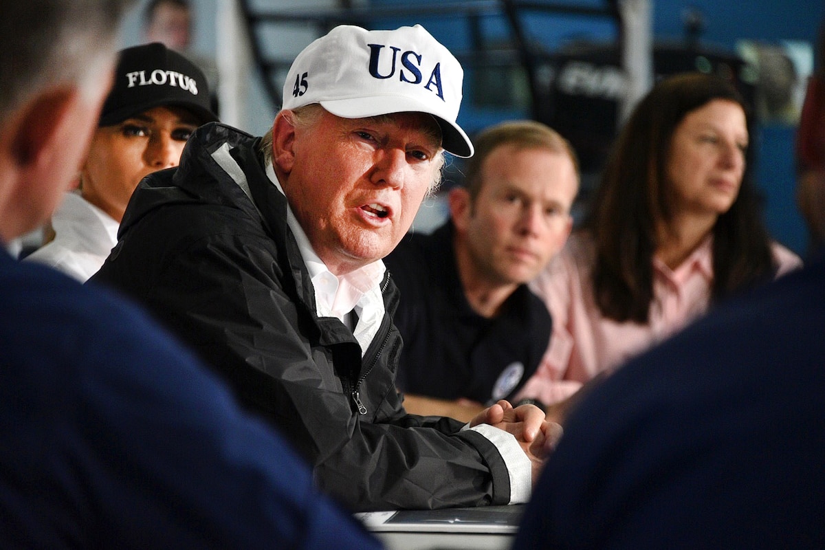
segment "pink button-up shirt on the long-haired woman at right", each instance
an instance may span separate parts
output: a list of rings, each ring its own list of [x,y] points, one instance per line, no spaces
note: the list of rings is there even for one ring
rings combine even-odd
[[[601,371],[623,364],[705,313],[713,281],[712,237],[675,270],[653,261],[653,303],[647,324],[602,317],[593,296],[595,249],[583,233],[567,245],[530,286],[553,317],[553,333],[539,369],[516,399],[562,401]],[[779,275],[802,265],[799,256],[774,243]]]

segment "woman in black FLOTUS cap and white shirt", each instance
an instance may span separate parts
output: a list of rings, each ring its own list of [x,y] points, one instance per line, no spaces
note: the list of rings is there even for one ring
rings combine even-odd
[[[52,217],[54,240],[26,259],[85,282],[115,246],[139,181],[176,167],[192,131],[212,120],[209,87],[195,64],[158,43],[121,50],[79,189]]]

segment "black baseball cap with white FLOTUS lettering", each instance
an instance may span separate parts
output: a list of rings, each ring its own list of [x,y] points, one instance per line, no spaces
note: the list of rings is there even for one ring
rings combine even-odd
[[[159,42],[121,49],[98,124],[115,125],[158,106],[183,107],[200,124],[218,120],[206,77],[195,63]]]

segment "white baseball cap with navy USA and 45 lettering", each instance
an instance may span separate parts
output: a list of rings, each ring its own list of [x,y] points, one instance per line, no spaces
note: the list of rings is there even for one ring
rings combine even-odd
[[[428,113],[441,146],[472,157],[473,143],[455,124],[464,70],[424,27],[367,31],[337,26],[298,54],[286,75],[284,109],[320,103],[347,119],[404,111]]]

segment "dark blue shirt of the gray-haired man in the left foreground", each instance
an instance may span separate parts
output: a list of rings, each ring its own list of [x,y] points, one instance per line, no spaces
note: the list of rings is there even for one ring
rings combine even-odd
[[[0,547],[380,548],[128,303],[0,253]]]

